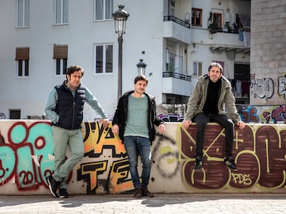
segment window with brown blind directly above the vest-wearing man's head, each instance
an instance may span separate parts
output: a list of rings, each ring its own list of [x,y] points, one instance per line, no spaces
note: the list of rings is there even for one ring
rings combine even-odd
[[[68,45],[54,45],[55,74],[65,75],[68,67]]]

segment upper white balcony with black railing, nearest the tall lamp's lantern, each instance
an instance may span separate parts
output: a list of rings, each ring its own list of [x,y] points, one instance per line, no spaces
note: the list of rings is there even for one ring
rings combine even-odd
[[[163,23],[164,38],[173,39],[180,43],[191,44],[191,25],[173,16],[165,16]]]

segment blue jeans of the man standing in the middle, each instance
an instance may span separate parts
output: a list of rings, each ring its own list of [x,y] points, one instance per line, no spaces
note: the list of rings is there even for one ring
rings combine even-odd
[[[135,188],[147,187],[151,173],[151,143],[149,138],[126,136],[124,137],[124,147],[128,156],[133,186]],[[142,184],[140,184],[137,170],[138,155],[140,155],[143,164]]]

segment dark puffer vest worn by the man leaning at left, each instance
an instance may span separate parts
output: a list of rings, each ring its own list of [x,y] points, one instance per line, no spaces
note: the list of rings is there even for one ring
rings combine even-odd
[[[58,103],[55,111],[59,114],[59,122],[53,125],[70,130],[81,128],[84,117],[84,100],[86,98],[85,88],[84,85],[80,84],[75,89],[75,97],[73,97],[65,82],[55,87],[58,94]]]

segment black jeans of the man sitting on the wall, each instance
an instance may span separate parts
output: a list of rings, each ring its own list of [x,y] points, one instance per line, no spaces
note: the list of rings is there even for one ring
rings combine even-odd
[[[225,115],[199,113],[193,118],[193,121],[198,125],[196,133],[196,156],[202,157],[203,155],[204,130],[207,127],[207,122],[218,122],[219,125],[225,128],[225,155],[232,155],[234,130],[231,119]]]

